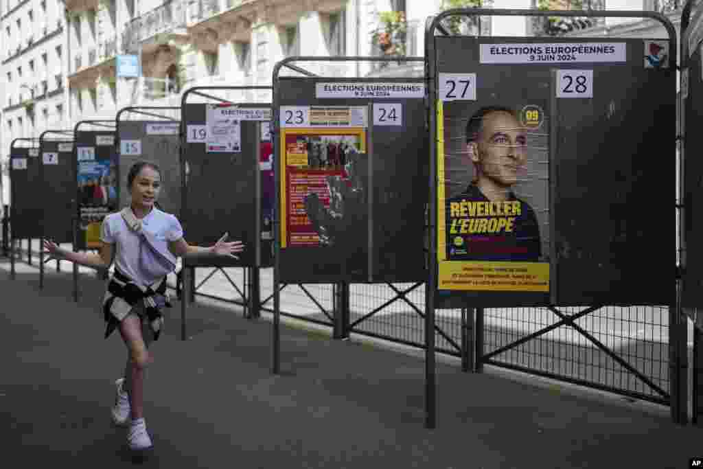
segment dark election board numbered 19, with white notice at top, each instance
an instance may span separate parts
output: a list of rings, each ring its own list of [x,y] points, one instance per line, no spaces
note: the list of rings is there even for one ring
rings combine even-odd
[[[191,266],[270,266],[273,247],[273,142],[266,103],[186,103],[182,110],[183,206],[188,241],[212,245],[225,232],[241,240],[239,259]]]

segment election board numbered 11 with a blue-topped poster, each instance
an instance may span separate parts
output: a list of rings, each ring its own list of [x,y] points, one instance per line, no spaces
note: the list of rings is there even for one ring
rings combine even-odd
[[[79,217],[75,247],[98,249],[103,219],[119,207],[115,131],[77,131],[75,155]]]

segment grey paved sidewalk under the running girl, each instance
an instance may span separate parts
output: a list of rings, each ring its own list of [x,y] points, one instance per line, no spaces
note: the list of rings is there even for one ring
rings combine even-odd
[[[64,269],[67,270],[67,269]],[[110,426],[126,352],[103,340],[103,281],[0,259],[0,432],[4,467],[125,467]],[[271,325],[236,309],[180,309],[148,372],[146,420],[164,468],[685,468],[703,431],[640,407],[578,397],[439,364],[437,430],[423,428],[421,359],[283,326],[283,374],[270,373]]]

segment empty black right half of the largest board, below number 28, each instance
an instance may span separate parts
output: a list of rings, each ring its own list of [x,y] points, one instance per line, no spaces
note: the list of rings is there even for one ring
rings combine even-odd
[[[559,120],[555,298],[558,304],[670,304],[676,73],[641,63],[594,69],[594,82],[607,86],[592,102],[560,100],[553,111]]]

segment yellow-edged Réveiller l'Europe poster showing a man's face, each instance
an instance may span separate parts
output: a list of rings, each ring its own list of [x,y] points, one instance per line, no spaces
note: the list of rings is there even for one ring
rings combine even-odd
[[[437,102],[437,288],[549,292],[540,103]]]

